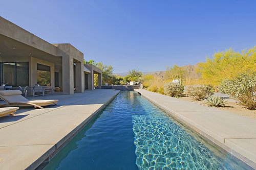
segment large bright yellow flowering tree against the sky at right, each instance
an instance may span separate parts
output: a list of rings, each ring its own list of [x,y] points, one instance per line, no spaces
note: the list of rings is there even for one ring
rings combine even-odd
[[[198,72],[202,79],[212,85],[219,86],[225,80],[230,79],[246,70],[256,71],[256,46],[242,50],[242,53],[234,52],[232,48],[225,52],[218,52],[206,62],[200,63]]]

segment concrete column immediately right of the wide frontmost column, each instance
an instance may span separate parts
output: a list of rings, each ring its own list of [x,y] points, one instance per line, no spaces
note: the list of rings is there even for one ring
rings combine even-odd
[[[76,92],[83,92],[84,76],[83,76],[83,64],[76,62]]]

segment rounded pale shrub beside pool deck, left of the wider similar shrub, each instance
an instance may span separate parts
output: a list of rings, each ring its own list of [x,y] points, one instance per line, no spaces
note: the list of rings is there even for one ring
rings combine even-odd
[[[178,94],[182,94],[183,89],[183,86],[181,86],[180,84],[169,82],[164,85],[164,94],[174,97]]]

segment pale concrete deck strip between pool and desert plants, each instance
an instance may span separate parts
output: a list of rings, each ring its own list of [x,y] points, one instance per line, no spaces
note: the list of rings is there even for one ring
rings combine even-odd
[[[147,90],[134,90],[256,169],[256,119]]]

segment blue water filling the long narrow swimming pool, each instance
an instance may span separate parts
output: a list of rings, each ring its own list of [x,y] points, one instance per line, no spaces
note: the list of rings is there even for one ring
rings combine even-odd
[[[136,92],[121,91],[52,158],[47,169],[248,167],[212,148]]]

